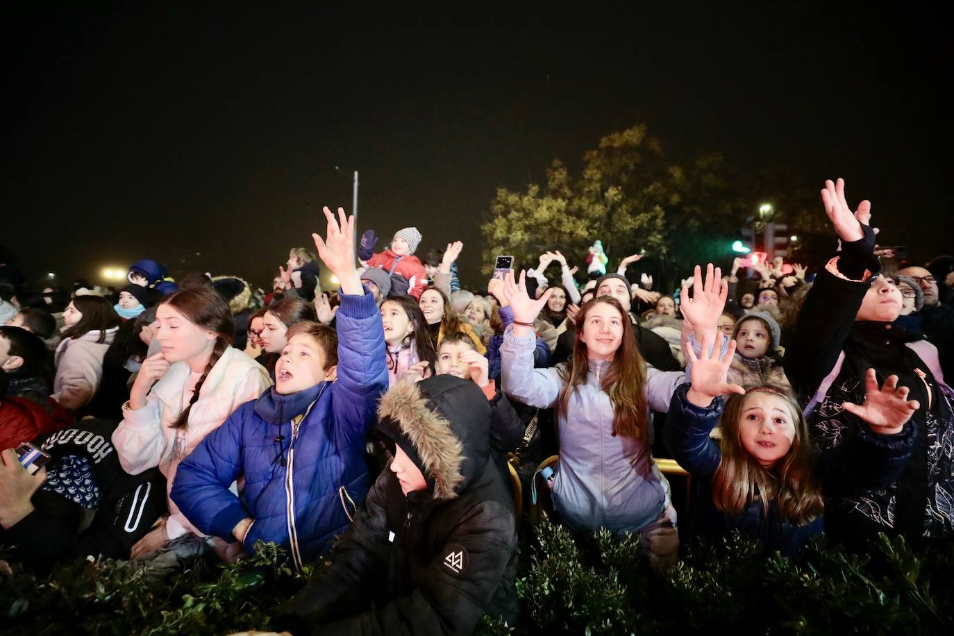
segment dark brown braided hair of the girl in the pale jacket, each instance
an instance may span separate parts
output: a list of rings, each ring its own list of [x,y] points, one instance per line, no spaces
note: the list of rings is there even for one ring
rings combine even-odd
[[[201,391],[202,384],[209,376],[209,372],[216,366],[216,362],[222,357],[222,354],[232,346],[232,340],[235,338],[235,325],[232,322],[232,312],[229,310],[228,304],[210,289],[183,289],[164,297],[159,304],[169,305],[199,329],[216,334],[216,344],[212,348],[209,363],[205,365],[205,371],[202,372],[202,376],[196,382],[196,388],[192,391],[189,405],[185,407],[179,414],[178,419],[172,424],[173,428],[183,428],[189,423],[189,411],[192,410],[192,405],[198,400],[199,391]]]

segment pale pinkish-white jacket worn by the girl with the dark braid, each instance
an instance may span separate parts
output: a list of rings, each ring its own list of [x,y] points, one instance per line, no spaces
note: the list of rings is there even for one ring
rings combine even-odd
[[[123,405],[125,419],[113,433],[113,444],[123,469],[138,475],[159,467],[166,476],[167,489],[172,489],[176,468],[206,435],[218,428],[233,411],[249,400],[256,400],[272,385],[268,372],[254,359],[229,347],[198,392],[198,400],[189,411],[188,425],[181,429],[172,424],[182,412],[182,392],[191,370],[186,362],[176,362],[146,397],[146,405],[135,411],[129,402]],[[176,435],[182,436],[176,456]],[[201,534],[169,500],[169,521],[166,533],[170,539],[187,532]]]

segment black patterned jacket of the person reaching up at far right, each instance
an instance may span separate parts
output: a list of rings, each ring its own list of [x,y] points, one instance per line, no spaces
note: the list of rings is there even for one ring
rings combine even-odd
[[[873,235],[869,239],[873,243]],[[909,399],[921,408],[911,418],[914,446],[901,477],[887,488],[828,497],[825,532],[848,543],[879,532],[930,542],[954,536],[954,394],[934,345],[897,322],[855,319],[879,269],[872,256],[840,252],[819,272],[798,315],[785,374],[807,405],[812,435],[825,453],[838,452],[858,434],[858,419],[841,404],[864,401],[868,368],[875,369],[879,385],[897,375],[898,384],[910,389]]]

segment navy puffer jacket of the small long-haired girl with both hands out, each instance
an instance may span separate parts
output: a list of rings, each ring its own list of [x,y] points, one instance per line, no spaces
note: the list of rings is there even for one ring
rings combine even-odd
[[[806,541],[824,531],[822,518],[800,525],[790,523],[779,517],[774,502],[767,513],[760,501],[749,503],[737,515],[728,515],[716,508],[712,477],[722,461],[722,453],[709,434],[722,418],[723,402],[722,398],[716,398],[705,408],[695,406],[686,398],[689,387],[683,384],[675,390],[663,437],[674,460],[700,480],[691,534],[715,539],[738,530],[760,540],[769,551],[778,550],[786,556],[795,554]],[[861,494],[896,480],[911,454],[913,441],[910,422],[898,435],[879,435],[860,426],[858,435],[845,444],[838,456],[816,455],[816,470],[824,494],[829,497],[836,491]]]

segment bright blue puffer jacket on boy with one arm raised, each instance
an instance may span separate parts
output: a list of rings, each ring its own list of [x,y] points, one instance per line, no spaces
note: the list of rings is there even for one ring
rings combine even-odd
[[[288,396],[269,389],[179,464],[172,499],[202,532],[235,541],[232,529],[251,517],[246,552],[259,539],[275,542],[301,566],[350,523],[370,484],[364,438],[387,389],[387,368],[374,298],[366,290],[341,298],[337,380]],[[239,476],[240,500],[229,490]]]

